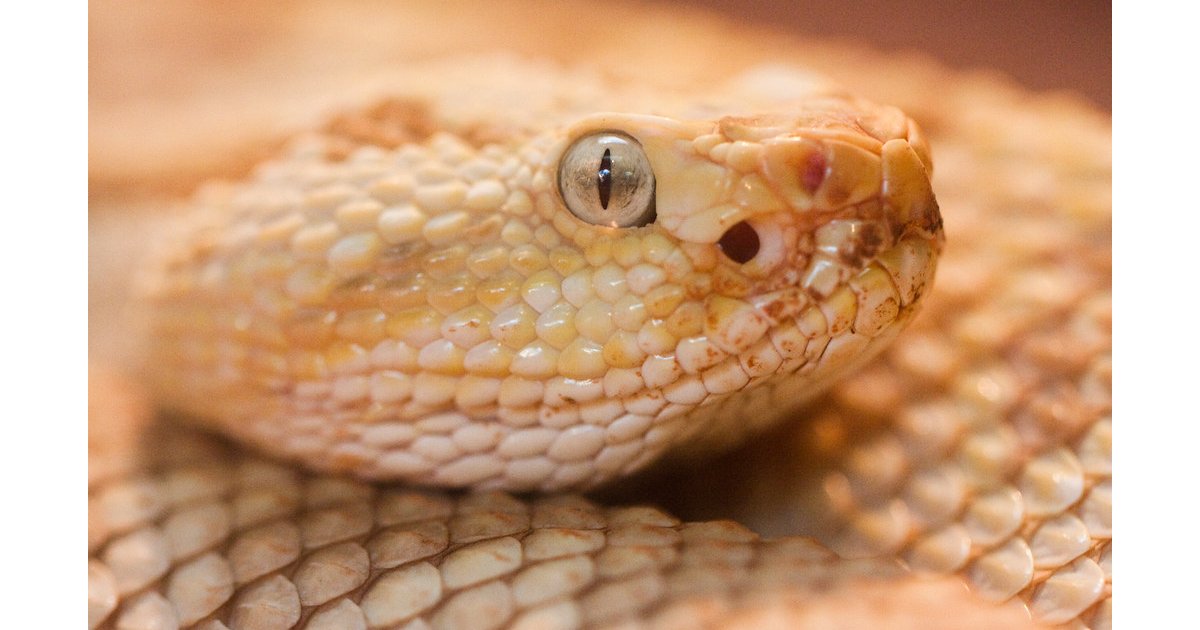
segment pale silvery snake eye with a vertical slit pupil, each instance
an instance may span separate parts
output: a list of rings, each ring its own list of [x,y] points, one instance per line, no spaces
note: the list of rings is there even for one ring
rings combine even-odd
[[[571,214],[595,226],[654,222],[654,172],[642,145],[619,131],[584,136],[563,154],[558,192]]]

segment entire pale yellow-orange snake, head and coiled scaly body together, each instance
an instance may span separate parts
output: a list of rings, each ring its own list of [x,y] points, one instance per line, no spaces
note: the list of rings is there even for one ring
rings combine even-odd
[[[89,628],[1111,625],[1103,116],[413,72],[154,244]]]

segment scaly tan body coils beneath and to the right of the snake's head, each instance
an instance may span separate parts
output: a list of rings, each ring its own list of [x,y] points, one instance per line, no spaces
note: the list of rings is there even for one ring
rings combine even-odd
[[[960,571],[985,598],[1018,595],[1040,619],[1105,626],[1108,198],[1093,191],[1106,186],[1108,155],[1087,150],[1104,148],[1104,132],[1061,124],[1078,114],[1072,108],[989,104],[968,118],[952,101],[932,126],[950,241],[916,335],[840,385],[815,420],[791,430],[796,436],[776,434],[752,451],[766,457],[740,474],[769,475],[754,487],[776,509],[751,510],[751,523],[779,529],[792,520],[779,505],[791,499],[804,533],[841,553]],[[1060,138],[1036,133],[1040,125],[1000,133],[1021,114],[1036,114]],[[94,412],[95,425],[104,426],[95,421],[101,413],[118,415]],[[288,626],[336,617],[385,626],[419,614],[439,625],[467,611],[488,612],[468,626],[534,614],[564,626],[623,617],[751,624],[786,613],[818,623],[820,613],[796,610],[799,601],[809,614],[824,602],[828,614],[853,624],[850,611],[876,601],[880,588],[883,604],[871,607],[910,619],[930,611],[930,598],[905,590],[918,583],[888,570],[888,560],[845,563],[794,539],[760,541],[731,523],[684,524],[656,510],[577,498],[366,486],[268,463],[169,425],[143,439],[152,446],[121,451],[119,440],[97,442],[120,455],[94,454],[89,575],[97,623],[179,617],[270,626],[274,617]],[[763,472],[763,460],[784,466]],[[739,474],[732,470],[722,476]],[[422,584],[428,596],[413,598]],[[538,600],[552,588],[564,593]],[[866,599],[847,604],[838,593]],[[997,626],[1012,623],[1003,617],[1010,610],[989,612]],[[938,601],[934,614],[949,613]]]

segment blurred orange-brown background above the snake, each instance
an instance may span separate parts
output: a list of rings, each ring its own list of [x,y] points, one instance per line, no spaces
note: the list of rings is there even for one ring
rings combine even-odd
[[[89,191],[185,193],[344,107],[365,77],[496,49],[695,80],[787,60],[901,106],[887,84],[920,77],[878,67],[930,58],[1109,112],[1111,30],[1097,0],[94,0]]]

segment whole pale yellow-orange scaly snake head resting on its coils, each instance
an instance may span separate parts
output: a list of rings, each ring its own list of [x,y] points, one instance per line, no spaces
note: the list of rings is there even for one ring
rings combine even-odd
[[[911,317],[942,236],[898,110],[580,82],[391,101],[202,194],[146,289],[160,400],[316,468],[580,487],[782,418]],[[587,114],[610,92],[655,114]]]

